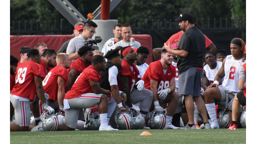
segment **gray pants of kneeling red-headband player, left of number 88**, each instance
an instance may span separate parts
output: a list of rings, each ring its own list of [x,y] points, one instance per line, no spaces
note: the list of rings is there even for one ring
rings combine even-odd
[[[141,91],[133,89],[131,92],[131,101],[133,104],[140,103],[141,111],[148,111],[153,100],[153,92],[149,89],[142,89]]]

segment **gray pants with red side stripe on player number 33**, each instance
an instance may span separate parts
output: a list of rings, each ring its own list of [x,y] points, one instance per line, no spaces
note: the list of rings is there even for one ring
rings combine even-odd
[[[30,101],[19,101],[12,94],[10,94],[10,102],[14,107],[15,122],[18,126],[30,125]]]

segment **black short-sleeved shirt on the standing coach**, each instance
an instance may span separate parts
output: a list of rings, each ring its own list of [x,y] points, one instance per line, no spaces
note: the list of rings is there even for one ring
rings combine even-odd
[[[189,67],[203,68],[203,57],[206,51],[204,34],[195,26],[185,31],[180,39],[178,49],[188,52],[186,57],[177,60],[178,74]]]

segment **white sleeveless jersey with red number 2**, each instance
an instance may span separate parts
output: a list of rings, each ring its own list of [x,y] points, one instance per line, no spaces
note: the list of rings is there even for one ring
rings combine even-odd
[[[222,86],[224,86],[227,91],[240,91],[238,89],[239,71],[245,62],[246,61],[242,62],[242,58],[235,60],[232,55],[226,57],[224,64],[225,77],[222,81]]]

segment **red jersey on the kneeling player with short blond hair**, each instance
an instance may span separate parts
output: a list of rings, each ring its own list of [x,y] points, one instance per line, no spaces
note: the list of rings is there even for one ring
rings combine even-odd
[[[43,80],[44,92],[49,95],[49,99],[55,102],[58,99],[58,77],[65,80],[65,89],[68,80],[68,72],[62,66],[57,65],[48,72]]]

